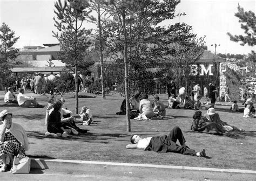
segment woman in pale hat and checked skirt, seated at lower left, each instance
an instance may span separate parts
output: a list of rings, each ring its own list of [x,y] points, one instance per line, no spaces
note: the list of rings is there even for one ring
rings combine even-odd
[[[14,156],[22,156],[25,150],[29,149],[29,142],[25,129],[12,122],[12,113],[3,110],[0,117],[0,156],[3,161],[0,172],[5,172],[7,169],[6,157],[9,156],[13,161]],[[12,165],[12,162],[10,164]]]

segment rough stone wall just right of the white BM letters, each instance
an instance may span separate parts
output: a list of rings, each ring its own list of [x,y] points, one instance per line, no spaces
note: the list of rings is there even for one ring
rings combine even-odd
[[[239,67],[234,62],[221,62],[220,63],[220,92],[225,92],[226,85],[230,88],[230,98],[231,101],[239,101],[239,85],[240,81],[237,76],[234,75],[234,71],[238,71]]]

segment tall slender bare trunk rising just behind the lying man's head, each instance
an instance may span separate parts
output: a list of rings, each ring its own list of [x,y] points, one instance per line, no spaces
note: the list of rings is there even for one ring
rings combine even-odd
[[[125,11],[125,10],[123,10]],[[124,26],[124,71],[125,71],[125,100],[126,100],[126,132],[131,132],[130,121],[130,98],[129,98],[129,78],[128,78],[128,63],[127,63],[127,34],[125,28],[125,13],[123,13],[123,26]]]

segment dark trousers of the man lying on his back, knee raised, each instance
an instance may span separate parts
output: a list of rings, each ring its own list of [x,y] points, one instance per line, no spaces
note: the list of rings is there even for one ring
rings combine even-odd
[[[179,127],[174,127],[170,134],[167,136],[167,139],[165,140],[165,144],[168,145],[167,152],[176,152],[183,155],[196,155],[196,151],[191,150],[188,147],[182,147],[178,144],[176,144],[177,140],[179,140],[179,143],[183,145],[186,140],[183,136],[183,133]]]

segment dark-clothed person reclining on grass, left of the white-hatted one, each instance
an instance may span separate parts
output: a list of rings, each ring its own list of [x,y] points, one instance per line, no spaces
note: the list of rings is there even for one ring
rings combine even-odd
[[[200,110],[193,115],[191,130],[217,135],[223,135],[223,133],[226,132],[223,126],[220,126],[215,122],[211,122],[207,120],[206,117],[202,116],[202,112]]]

